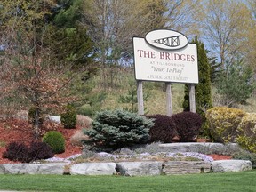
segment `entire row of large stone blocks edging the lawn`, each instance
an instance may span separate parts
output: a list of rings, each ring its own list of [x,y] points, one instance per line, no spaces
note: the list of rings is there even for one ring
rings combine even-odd
[[[172,175],[204,172],[241,172],[252,170],[244,160],[203,161],[141,161],[83,164],[0,164],[0,174],[71,174],[71,175]]]

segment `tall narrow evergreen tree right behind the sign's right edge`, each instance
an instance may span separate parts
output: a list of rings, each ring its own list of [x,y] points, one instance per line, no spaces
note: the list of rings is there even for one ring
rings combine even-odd
[[[192,43],[197,44],[199,70],[199,84],[196,84],[195,86],[196,113],[204,117],[204,111],[208,108],[212,108],[210,64],[207,58],[206,50],[204,49],[204,44],[200,42],[197,37]],[[189,110],[188,84],[185,86],[183,108],[184,111]]]

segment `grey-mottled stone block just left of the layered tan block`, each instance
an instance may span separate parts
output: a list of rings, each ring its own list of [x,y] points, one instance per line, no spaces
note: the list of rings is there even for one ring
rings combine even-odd
[[[120,162],[116,163],[116,171],[125,176],[160,175],[162,162]]]

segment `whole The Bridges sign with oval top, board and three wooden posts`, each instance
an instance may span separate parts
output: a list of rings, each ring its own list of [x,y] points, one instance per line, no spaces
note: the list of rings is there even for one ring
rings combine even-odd
[[[144,115],[142,81],[165,83],[167,116],[172,116],[171,83],[191,84],[190,110],[196,112],[196,44],[188,44],[188,38],[180,32],[159,29],[150,31],[145,38],[133,37],[133,50],[140,115]]]

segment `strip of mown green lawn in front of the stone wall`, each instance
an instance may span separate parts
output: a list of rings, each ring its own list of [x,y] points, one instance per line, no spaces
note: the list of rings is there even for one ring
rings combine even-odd
[[[154,177],[0,175],[0,189],[74,192],[255,192],[255,177],[255,171]]]

